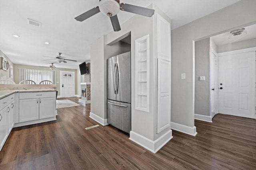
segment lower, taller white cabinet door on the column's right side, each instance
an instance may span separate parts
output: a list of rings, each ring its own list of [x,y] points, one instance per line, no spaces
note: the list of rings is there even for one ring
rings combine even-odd
[[[157,60],[157,133],[170,127],[170,62]]]

